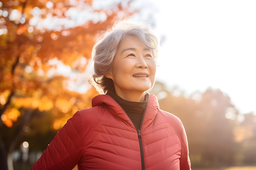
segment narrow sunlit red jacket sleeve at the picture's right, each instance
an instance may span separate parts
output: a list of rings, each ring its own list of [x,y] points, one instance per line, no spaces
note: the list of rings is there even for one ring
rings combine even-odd
[[[189,146],[184,126],[182,125],[182,155],[180,158],[180,170],[191,170],[191,162],[189,159]]]

